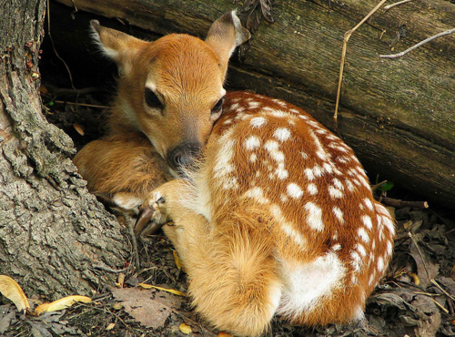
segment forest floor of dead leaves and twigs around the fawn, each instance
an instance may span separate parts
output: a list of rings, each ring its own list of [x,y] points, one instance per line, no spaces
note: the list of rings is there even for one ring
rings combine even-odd
[[[78,149],[103,131],[105,103],[96,100],[95,92],[88,88],[76,97],[72,90],[50,85],[42,90],[48,120],[63,128]],[[389,196],[413,198],[394,189]],[[366,322],[301,328],[276,318],[267,336],[455,336],[454,212],[431,204],[429,209],[393,210],[398,228],[394,256],[367,301]],[[127,221],[122,215],[118,219]],[[213,330],[181,296],[187,292],[187,276],[162,234],[140,238],[138,253],[141,269],[119,273],[118,283],[91,303],[36,317],[18,314],[12,304],[0,305],[0,335],[228,336]]]

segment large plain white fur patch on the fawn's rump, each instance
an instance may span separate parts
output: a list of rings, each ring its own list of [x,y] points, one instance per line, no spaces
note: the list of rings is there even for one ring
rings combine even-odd
[[[319,301],[339,288],[346,272],[334,251],[305,264],[282,261],[281,269],[284,284],[278,314],[291,317],[317,307]]]

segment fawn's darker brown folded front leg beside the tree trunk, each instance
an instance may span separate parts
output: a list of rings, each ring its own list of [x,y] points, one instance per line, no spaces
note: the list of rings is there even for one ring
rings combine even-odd
[[[147,139],[134,134],[92,141],[74,162],[90,192],[109,206],[133,213],[168,179],[165,160]]]

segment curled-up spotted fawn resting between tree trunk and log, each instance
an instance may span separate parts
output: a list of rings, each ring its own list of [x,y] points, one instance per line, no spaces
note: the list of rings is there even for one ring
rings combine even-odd
[[[137,232],[173,220],[163,230],[196,310],[250,336],[275,314],[301,325],[361,320],[389,264],[393,220],[352,149],[313,117],[225,91],[228,58],[249,38],[238,16],[217,19],[205,41],[92,26],[121,77],[109,135],[76,165],[99,197],[143,209]]]

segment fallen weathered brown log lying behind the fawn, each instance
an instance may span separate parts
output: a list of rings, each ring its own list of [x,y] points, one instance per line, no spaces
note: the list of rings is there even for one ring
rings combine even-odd
[[[287,99],[333,129],[344,33],[377,3],[277,0],[275,23],[258,27],[243,62],[232,63],[229,84]],[[78,0],[76,6],[161,35],[196,36],[205,36],[213,20],[234,7],[226,0]],[[370,172],[450,207],[455,207],[455,36],[399,59],[378,55],[390,54],[391,44],[401,51],[454,26],[455,5],[444,0],[380,9],[349,39],[339,112],[341,136]]]

